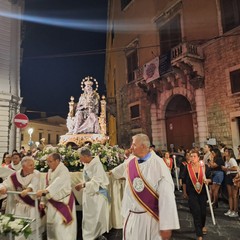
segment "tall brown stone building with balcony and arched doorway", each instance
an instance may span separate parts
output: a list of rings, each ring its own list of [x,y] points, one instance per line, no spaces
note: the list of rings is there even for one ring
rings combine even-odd
[[[161,149],[209,139],[236,149],[239,19],[239,0],[109,1],[105,77],[119,145],[144,132]]]

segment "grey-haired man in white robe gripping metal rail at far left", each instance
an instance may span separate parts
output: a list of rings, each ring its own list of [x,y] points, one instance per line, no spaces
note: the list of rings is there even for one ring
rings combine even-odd
[[[34,200],[32,196],[27,196],[28,192],[36,192],[39,189],[40,174],[34,170],[34,159],[26,156],[21,161],[22,169],[11,174],[2,184],[0,184],[0,195],[6,194],[7,191],[19,191],[20,195],[14,194],[14,201],[8,201],[9,212],[15,216],[27,217],[35,219],[31,224],[32,234],[28,240],[36,240],[36,227],[39,228],[39,233],[44,231],[44,226],[40,220],[39,211],[36,212]],[[28,199],[27,199],[28,198]],[[36,223],[38,222],[38,226]],[[26,239],[23,235],[15,237],[16,240]],[[37,239],[42,239],[41,235]]]

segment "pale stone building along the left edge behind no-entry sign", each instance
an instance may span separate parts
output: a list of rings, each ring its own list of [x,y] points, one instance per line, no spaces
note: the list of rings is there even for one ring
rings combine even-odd
[[[0,0],[0,156],[20,149],[13,118],[20,111],[21,21],[24,1]]]

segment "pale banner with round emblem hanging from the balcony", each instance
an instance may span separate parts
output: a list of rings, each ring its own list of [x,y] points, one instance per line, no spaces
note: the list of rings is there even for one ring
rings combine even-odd
[[[159,57],[143,66],[143,78],[147,83],[159,78]]]

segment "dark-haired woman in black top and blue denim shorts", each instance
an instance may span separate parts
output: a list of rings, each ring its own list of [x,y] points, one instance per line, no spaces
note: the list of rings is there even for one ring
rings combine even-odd
[[[210,160],[208,161],[208,166],[212,172],[212,198],[213,198],[213,208],[218,207],[218,193],[220,186],[224,179],[224,172],[222,166],[224,166],[224,161],[222,154],[218,148],[214,148],[211,151]]]

